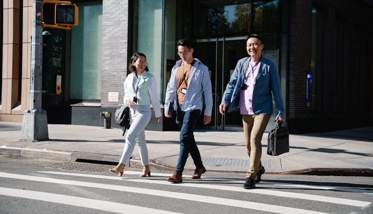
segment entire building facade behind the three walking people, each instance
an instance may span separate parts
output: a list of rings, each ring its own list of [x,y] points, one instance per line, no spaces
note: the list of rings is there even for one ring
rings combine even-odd
[[[2,2],[0,121],[21,122],[30,106],[32,0]],[[123,102],[133,52],[147,56],[163,102],[179,59],[176,43],[186,38],[212,83],[212,121],[203,126],[200,118],[198,127],[240,130],[239,112],[221,116],[218,106],[237,61],[247,56],[246,36],[255,32],[264,38],[263,55],[279,70],[291,133],[373,125],[372,0],[71,2],[79,6],[79,25],[43,32],[42,108],[48,123],[103,126],[100,112],[114,113]],[[53,4],[44,4],[45,22],[52,10]],[[174,130],[174,119],[151,120],[147,129]]]

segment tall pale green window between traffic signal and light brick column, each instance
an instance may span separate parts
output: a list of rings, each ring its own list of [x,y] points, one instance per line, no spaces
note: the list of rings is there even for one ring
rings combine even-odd
[[[79,25],[71,30],[70,98],[101,99],[102,2],[78,2]]]

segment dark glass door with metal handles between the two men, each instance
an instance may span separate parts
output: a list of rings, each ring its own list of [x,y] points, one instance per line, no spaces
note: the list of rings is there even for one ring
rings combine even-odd
[[[242,116],[239,111],[221,115],[219,105],[237,61],[248,56],[246,37],[198,39],[195,43],[193,55],[208,67],[211,78],[213,109],[210,126],[215,130],[242,127]]]

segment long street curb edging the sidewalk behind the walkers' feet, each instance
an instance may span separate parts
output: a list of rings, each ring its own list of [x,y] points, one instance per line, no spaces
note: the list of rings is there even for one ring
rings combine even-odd
[[[24,145],[2,145],[0,146],[0,155],[17,156],[25,158],[41,158],[53,159],[60,161],[75,161],[97,164],[116,165],[120,159],[118,155],[97,154],[89,152],[74,152],[53,149],[29,148]],[[170,166],[164,163],[159,163],[155,160],[149,160],[149,165],[152,169],[163,171],[175,171],[175,166]],[[130,158],[129,167],[143,168],[139,158]],[[194,172],[194,169],[184,169],[185,172]],[[228,171],[228,170],[208,170],[215,173],[246,173],[243,171]],[[368,168],[308,168],[300,170],[292,170],[285,172],[266,172],[266,174],[274,175],[316,175],[316,176],[359,176],[373,177],[373,169]]]

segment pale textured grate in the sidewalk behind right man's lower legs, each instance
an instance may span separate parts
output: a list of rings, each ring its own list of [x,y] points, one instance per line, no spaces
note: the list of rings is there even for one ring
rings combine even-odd
[[[226,159],[226,158],[202,158],[203,165],[206,166],[226,166],[226,167],[243,167],[249,168],[249,159]],[[271,168],[270,160],[262,160],[265,168]]]

